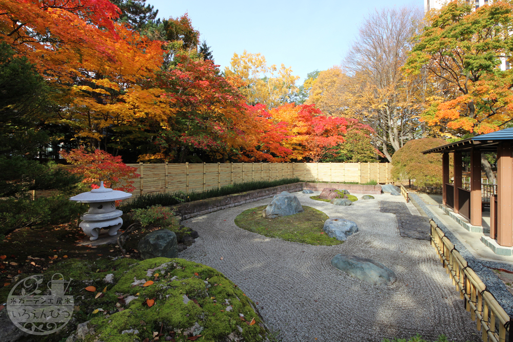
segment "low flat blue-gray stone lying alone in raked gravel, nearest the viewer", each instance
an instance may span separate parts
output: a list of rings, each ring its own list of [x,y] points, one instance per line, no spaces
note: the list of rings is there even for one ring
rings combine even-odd
[[[388,267],[359,256],[337,254],[331,259],[331,265],[372,285],[392,285],[396,281],[396,274]]]

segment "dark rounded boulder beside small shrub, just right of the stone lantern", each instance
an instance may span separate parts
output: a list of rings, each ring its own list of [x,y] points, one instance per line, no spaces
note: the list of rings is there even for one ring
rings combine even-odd
[[[167,229],[156,230],[144,236],[137,249],[144,260],[161,256],[175,258],[178,256],[176,234]]]

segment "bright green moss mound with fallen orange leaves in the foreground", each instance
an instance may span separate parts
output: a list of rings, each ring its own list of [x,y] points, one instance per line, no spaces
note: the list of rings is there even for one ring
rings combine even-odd
[[[60,341],[86,321],[90,330],[83,339],[86,342],[151,341],[155,336],[161,341],[168,336],[175,341],[194,340],[194,336],[205,341],[263,341],[268,334],[251,299],[223,274],[205,265],[178,258],[96,263],[72,259],[45,272],[43,283],[55,272],[65,279],[73,278],[69,294],[74,297],[75,312],[63,330],[28,336],[27,341],[35,337],[38,341]],[[149,280],[153,284],[148,286]],[[86,291],[88,286],[96,290]],[[95,298],[100,292],[103,295]]]

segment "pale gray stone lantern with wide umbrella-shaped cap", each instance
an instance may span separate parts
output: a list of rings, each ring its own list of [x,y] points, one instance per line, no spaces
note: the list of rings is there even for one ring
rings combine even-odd
[[[108,229],[109,235],[114,236],[123,225],[123,211],[116,209],[116,200],[132,197],[132,194],[119,190],[112,190],[100,183],[100,188],[89,192],[83,192],[70,197],[76,202],[89,203],[89,211],[80,218],[80,228],[89,236],[90,240],[96,240],[102,229]]]

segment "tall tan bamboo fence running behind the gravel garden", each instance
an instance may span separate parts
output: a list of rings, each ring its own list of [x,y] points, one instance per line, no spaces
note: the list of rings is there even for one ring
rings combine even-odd
[[[389,183],[389,163],[203,163],[127,164],[141,176],[134,180],[133,195],[148,193],[201,192],[251,180],[298,177],[303,181]],[[46,197],[52,191],[37,191]]]

